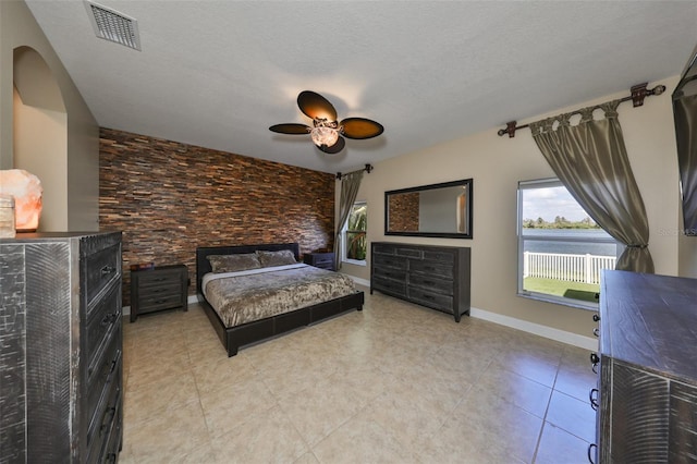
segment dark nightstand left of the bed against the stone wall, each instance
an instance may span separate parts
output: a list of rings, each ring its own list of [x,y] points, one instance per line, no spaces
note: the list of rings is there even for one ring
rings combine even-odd
[[[131,322],[162,309],[186,310],[188,270],[184,265],[131,271]]]

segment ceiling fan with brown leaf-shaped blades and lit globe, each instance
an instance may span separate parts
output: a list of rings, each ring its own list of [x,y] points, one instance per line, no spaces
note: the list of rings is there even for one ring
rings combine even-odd
[[[313,119],[313,126],[297,123],[276,124],[269,127],[279,134],[309,134],[317,148],[326,154],[338,154],[344,149],[347,138],[372,138],[382,134],[382,124],[365,118],[346,118],[337,121],[337,110],[325,97],[310,90],[297,96],[301,111]],[[342,137],[342,135],[344,137]]]

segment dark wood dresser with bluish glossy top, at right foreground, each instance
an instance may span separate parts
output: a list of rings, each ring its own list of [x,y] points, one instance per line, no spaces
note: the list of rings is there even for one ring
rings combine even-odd
[[[697,280],[604,271],[599,319],[589,459],[696,463]]]

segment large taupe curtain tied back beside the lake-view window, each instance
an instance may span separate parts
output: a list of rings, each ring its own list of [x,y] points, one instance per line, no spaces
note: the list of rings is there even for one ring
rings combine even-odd
[[[617,120],[620,100],[530,124],[533,138],[571,195],[608,234],[626,245],[615,269],[653,272],[649,227]],[[594,120],[600,109],[604,119]],[[570,119],[580,114],[578,125]]]

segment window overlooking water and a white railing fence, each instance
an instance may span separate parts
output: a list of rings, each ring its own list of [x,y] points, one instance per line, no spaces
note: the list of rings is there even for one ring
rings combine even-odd
[[[518,295],[597,308],[617,248],[559,180],[518,183]]]

